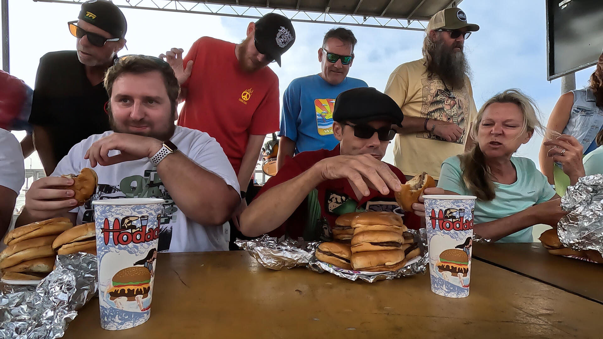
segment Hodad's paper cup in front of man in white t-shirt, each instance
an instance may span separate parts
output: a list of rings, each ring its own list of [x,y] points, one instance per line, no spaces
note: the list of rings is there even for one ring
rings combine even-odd
[[[151,316],[163,199],[92,201],[101,328],[138,326]]]

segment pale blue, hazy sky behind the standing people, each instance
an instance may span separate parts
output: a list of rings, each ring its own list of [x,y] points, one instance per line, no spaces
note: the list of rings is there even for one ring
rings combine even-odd
[[[118,1],[116,1],[118,2]],[[464,0],[459,5],[467,21],[480,26],[465,42],[472,66],[473,98],[479,107],[497,92],[519,88],[538,103],[541,122],[548,116],[561,92],[561,81],[546,80],[545,1]],[[215,8],[215,7],[214,7]],[[34,87],[40,57],[46,52],[75,49],[75,37],[67,22],[77,20],[80,6],[9,1],[10,71]],[[159,55],[172,47],[188,51],[201,36],[240,42],[252,19],[175,13],[124,8],[128,21],[128,50],[119,55]],[[264,12],[262,12],[264,13]],[[336,25],[294,22],[296,40],[282,57],[282,68],[270,67],[279,77],[280,94],[294,78],[320,72],[317,51],[323,35]],[[421,31],[349,26],[358,45],[349,76],[361,78],[369,86],[384,90],[390,73],[398,65],[421,58],[424,33]],[[587,85],[593,68],[576,73],[576,87]],[[23,132],[14,133],[18,139]],[[538,166],[541,136],[523,145],[518,156],[529,157]],[[393,163],[390,146],[384,160]],[[26,168],[42,168],[37,154],[25,160]]]

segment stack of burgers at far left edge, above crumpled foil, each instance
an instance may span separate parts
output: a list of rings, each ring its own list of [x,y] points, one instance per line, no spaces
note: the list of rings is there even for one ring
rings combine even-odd
[[[52,242],[71,229],[68,218],[53,218],[17,227],[4,237],[6,249],[0,252],[4,280],[40,280],[52,271],[56,253]]]

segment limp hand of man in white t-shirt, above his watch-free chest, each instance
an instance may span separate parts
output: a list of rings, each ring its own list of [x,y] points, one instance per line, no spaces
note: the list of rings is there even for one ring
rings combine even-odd
[[[112,133],[94,142],[86,151],[84,159],[90,159],[90,166],[109,166],[115,163],[153,157],[162,147],[162,142],[148,136],[127,133]],[[117,150],[120,154],[109,156]]]

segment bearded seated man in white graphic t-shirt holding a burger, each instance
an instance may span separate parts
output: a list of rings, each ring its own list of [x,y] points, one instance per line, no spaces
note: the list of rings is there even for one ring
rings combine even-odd
[[[241,201],[239,184],[215,139],[174,125],[179,86],[171,67],[155,57],[122,57],[104,85],[113,131],[74,145],[50,177],[34,182],[17,225],[63,216],[88,223],[92,200],[163,198],[159,252],[227,250],[223,225]],[[85,167],[98,175],[90,201],[74,208],[75,199],[55,200],[74,196],[57,189],[73,183],[60,176]]]

